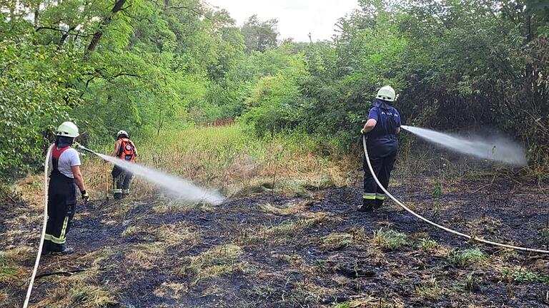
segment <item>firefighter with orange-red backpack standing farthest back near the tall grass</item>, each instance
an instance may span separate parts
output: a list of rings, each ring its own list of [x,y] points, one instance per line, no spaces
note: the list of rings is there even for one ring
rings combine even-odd
[[[117,133],[117,142],[114,143],[112,156],[126,160],[129,163],[135,163],[137,150],[132,140],[129,140],[129,134],[126,130],[120,130]],[[112,169],[112,179],[114,183],[114,199],[120,200],[129,195],[129,185],[132,182],[133,174],[128,170],[114,166]]]

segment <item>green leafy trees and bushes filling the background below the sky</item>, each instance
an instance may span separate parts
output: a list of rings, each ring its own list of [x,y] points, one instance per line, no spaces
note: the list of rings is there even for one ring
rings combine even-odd
[[[347,147],[385,84],[406,124],[500,128],[548,170],[545,1],[359,4],[332,41],[280,43],[199,0],[1,1],[0,175],[39,167],[66,119],[91,145],[240,117]]]

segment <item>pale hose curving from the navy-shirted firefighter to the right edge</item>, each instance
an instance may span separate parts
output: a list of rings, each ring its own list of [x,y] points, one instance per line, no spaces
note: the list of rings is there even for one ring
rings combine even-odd
[[[410,214],[414,215],[415,217],[419,218],[420,220],[423,220],[424,222],[427,222],[429,225],[433,225],[439,229],[442,229],[442,230],[445,230],[446,232],[450,232],[454,235],[458,235],[460,237],[465,237],[466,239],[468,240],[472,240],[472,241],[477,241],[477,242],[482,242],[484,244],[488,244],[488,245],[494,245],[494,246],[498,246],[498,247],[503,247],[503,248],[508,248],[508,249],[512,249],[512,250],[522,250],[522,251],[526,251],[526,252],[538,252],[538,253],[542,253],[542,254],[549,254],[549,251],[548,250],[537,250],[537,249],[533,249],[533,248],[526,248],[526,247],[519,247],[519,246],[513,246],[513,245],[506,245],[506,244],[502,244],[502,243],[498,243],[498,242],[492,242],[492,241],[489,241],[489,240],[484,240],[483,238],[481,237],[475,237],[475,236],[471,236],[471,235],[466,235],[466,234],[463,234],[461,232],[458,232],[458,231],[455,231],[455,230],[452,230],[450,228],[447,228],[447,227],[444,227],[442,225],[438,225],[437,223],[435,222],[432,222],[430,220],[428,220],[427,218],[417,214],[416,212],[410,210],[410,208],[406,207],[406,205],[402,204],[402,202],[400,202],[399,200],[397,200],[397,198],[395,198],[393,195],[391,195],[384,187],[383,185],[381,185],[380,183],[380,180],[377,179],[377,176],[375,175],[374,173],[374,170],[372,168],[372,163],[370,163],[370,157],[368,156],[368,150],[367,150],[367,147],[366,147],[366,136],[362,136],[362,146],[364,147],[364,154],[366,156],[366,162],[368,163],[368,168],[370,169],[370,173],[372,173],[372,177],[374,178],[375,180],[375,183],[377,183],[377,186],[379,186],[381,188],[381,190],[383,191],[383,193],[385,193],[387,196],[389,196],[393,201],[395,201],[397,203],[397,205],[400,205],[400,207],[402,207],[403,209],[405,209],[407,212],[409,212]]]

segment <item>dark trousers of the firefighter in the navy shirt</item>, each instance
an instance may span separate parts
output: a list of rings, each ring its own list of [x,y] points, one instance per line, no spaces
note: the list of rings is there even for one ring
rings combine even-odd
[[[398,142],[396,139],[381,138],[367,140],[366,145],[372,169],[377,179],[387,189],[389,187],[391,171],[397,158]],[[362,168],[364,168],[364,195],[362,196],[362,204],[367,207],[381,207],[385,200],[385,193],[375,183],[365,156],[363,157]]]

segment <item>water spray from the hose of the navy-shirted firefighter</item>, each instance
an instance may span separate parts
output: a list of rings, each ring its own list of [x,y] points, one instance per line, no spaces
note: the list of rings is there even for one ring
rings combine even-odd
[[[458,135],[439,133],[435,130],[402,125],[402,129],[420,138],[437,143],[458,153],[473,155],[477,158],[495,160],[508,165],[526,165],[525,150],[509,138],[493,135],[491,137],[473,136],[464,138]]]

